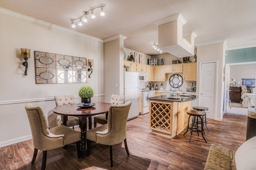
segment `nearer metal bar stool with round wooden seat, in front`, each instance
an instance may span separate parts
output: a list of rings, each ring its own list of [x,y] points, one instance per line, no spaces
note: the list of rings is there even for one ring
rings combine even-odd
[[[204,124],[201,123],[201,130],[199,130],[199,128],[198,128],[198,118],[201,120],[201,122],[203,122],[202,118],[205,115],[205,113],[200,112],[200,111],[187,111],[187,114],[189,115],[189,117],[188,117],[188,126],[187,126],[187,131],[183,135],[185,135],[188,131],[190,131],[190,138],[189,138],[189,141],[188,141],[189,143],[191,141],[193,132],[197,132],[198,136],[199,136],[198,132],[201,132],[202,137],[204,138]],[[191,126],[189,127],[190,116],[193,116],[193,118],[192,118]],[[204,138],[204,141],[207,143],[205,138]]]

